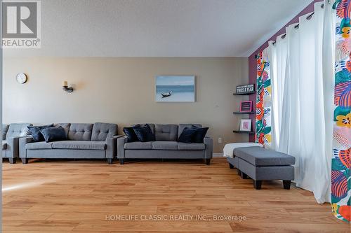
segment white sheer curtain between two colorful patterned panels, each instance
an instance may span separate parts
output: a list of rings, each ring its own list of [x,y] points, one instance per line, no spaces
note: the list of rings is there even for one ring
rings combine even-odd
[[[328,1],[267,48],[272,80],[272,146],[296,157],[295,182],[330,202],[333,130],[333,13]],[[325,9],[325,10],[324,10]]]

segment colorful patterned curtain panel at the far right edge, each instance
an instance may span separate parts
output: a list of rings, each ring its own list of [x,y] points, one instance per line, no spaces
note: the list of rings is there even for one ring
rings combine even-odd
[[[350,222],[351,213],[351,24],[350,0],[337,0],[331,204],[336,218]]]

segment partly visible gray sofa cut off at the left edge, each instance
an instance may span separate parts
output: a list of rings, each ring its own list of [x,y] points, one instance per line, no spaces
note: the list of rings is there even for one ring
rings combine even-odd
[[[32,124],[2,125],[2,157],[8,158],[11,164],[15,164],[19,153],[20,138],[28,135],[28,128]]]

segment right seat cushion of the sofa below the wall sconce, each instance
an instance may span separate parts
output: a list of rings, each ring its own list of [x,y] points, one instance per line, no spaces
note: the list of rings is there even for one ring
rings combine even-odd
[[[106,150],[105,141],[55,141],[53,149]]]

